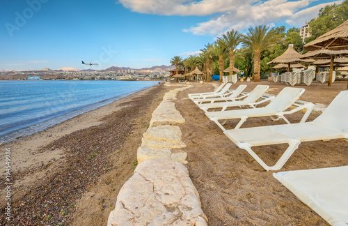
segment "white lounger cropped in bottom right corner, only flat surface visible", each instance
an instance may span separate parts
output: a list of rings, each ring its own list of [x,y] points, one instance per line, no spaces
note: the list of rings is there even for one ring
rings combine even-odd
[[[278,172],[273,176],[330,225],[348,225],[348,166]]]

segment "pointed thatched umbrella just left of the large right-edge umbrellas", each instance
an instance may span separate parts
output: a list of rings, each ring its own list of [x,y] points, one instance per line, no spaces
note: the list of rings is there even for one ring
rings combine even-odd
[[[308,62],[312,63],[314,60],[312,59],[301,59],[302,55],[299,52],[296,52],[294,50],[294,47],[292,45],[289,45],[287,50],[283,52],[279,57],[276,57],[272,61],[269,61],[267,64],[279,64],[279,63],[286,63],[287,64],[287,71],[290,71],[291,64],[292,63],[299,63],[299,62]]]

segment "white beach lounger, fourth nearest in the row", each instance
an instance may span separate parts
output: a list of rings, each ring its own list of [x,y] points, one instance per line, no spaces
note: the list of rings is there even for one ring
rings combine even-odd
[[[256,105],[260,105],[260,103],[264,103],[274,98],[274,96],[269,96],[269,95],[262,96],[264,92],[267,91],[268,88],[269,86],[257,85],[250,93],[244,94],[246,98],[244,98],[243,100],[226,101],[226,102],[220,102],[220,103],[202,103],[202,104],[198,104],[198,107],[200,107],[200,109],[205,112],[207,112],[207,110],[211,108],[220,108],[220,107],[222,107],[221,111],[225,111],[227,107],[242,107],[242,106],[245,107],[246,106],[246,107],[255,108]],[[215,100],[226,100],[226,99],[216,98]]]

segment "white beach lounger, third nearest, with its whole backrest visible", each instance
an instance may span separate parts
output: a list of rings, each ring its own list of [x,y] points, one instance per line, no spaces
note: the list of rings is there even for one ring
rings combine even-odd
[[[258,107],[253,109],[242,109],[242,110],[228,110],[224,112],[205,112],[205,115],[212,121],[214,121],[223,131],[226,130],[223,128],[223,125],[228,119],[240,119],[235,129],[240,128],[246,119],[250,117],[262,117],[269,116],[273,121],[278,121],[279,119],[284,119],[287,123],[290,123],[285,118],[285,114],[292,114],[298,112],[299,110],[307,109],[306,113],[303,115],[301,122],[305,122],[312,112],[314,104],[306,101],[297,100],[304,89],[301,88],[290,88],[285,87],[276,98],[271,100],[265,107]],[[287,110],[287,108],[294,106],[292,110]],[[274,117],[275,116],[275,117]],[[220,123],[219,120],[224,120],[223,123]]]

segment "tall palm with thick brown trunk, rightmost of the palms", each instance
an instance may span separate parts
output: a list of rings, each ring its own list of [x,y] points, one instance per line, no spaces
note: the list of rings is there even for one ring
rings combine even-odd
[[[274,29],[260,25],[255,28],[249,28],[244,36],[244,46],[249,47],[254,52],[254,82],[260,82],[261,52],[268,47],[275,45],[278,36]]]

